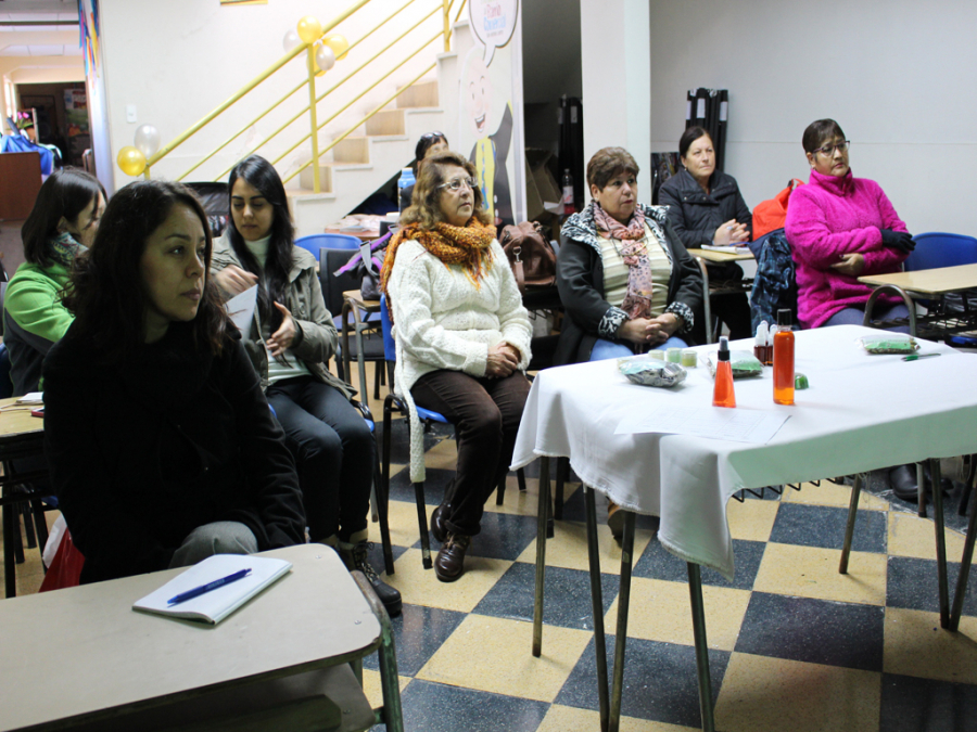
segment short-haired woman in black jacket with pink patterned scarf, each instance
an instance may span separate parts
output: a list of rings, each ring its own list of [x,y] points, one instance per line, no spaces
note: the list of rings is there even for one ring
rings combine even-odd
[[[702,305],[702,277],[662,206],[637,203],[638,166],[623,147],[587,163],[593,201],[563,224],[557,287],[567,311],[557,364],[682,347]]]

